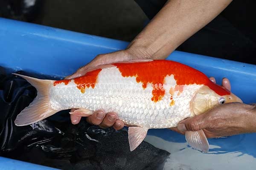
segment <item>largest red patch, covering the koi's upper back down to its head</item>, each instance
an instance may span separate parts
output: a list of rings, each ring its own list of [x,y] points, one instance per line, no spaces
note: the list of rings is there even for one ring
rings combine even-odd
[[[136,81],[142,82],[144,89],[147,87],[147,83],[151,83],[153,87],[151,100],[154,102],[163,98],[165,94],[164,78],[172,74],[177,85],[207,85],[220,96],[230,94],[230,91],[213,83],[202,72],[175,61],[154,60],[151,62],[114,63],[113,65],[119,69],[123,77],[136,77]],[[177,88],[180,92],[183,91],[183,86],[177,86]]]

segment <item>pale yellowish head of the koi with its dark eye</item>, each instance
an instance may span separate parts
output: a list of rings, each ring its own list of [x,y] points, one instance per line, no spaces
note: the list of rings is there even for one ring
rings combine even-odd
[[[223,90],[223,87],[219,85],[218,88],[222,88]],[[190,102],[192,116],[202,114],[218,105],[223,105],[224,103],[242,103],[242,100],[238,96],[231,93],[227,89],[224,90],[227,91],[227,94],[219,95],[207,85],[203,85],[198,91],[196,91]]]

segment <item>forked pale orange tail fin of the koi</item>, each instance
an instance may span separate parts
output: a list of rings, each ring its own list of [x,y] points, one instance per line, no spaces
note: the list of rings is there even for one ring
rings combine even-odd
[[[15,120],[16,126],[30,125],[58,112],[53,110],[49,103],[49,88],[54,80],[36,79],[20,74],[15,75],[26,79],[37,90],[37,96],[34,101],[18,114]]]

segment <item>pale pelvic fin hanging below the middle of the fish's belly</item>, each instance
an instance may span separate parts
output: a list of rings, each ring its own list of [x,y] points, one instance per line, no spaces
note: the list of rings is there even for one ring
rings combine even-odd
[[[146,137],[147,132],[148,129],[139,126],[128,128],[128,139],[131,151],[136,149],[141,144],[143,139]]]

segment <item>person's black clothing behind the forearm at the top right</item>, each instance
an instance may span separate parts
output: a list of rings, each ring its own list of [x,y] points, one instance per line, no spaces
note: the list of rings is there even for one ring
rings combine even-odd
[[[167,0],[135,1],[151,20]],[[233,1],[177,50],[256,64],[255,6],[255,0]]]

